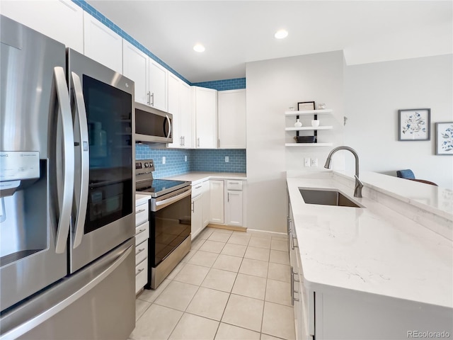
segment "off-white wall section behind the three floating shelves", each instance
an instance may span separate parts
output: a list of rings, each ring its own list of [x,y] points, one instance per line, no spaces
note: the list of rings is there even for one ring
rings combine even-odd
[[[286,231],[286,171],[304,171],[304,155],[319,158],[319,167],[332,147],[285,147],[285,115],[298,101],[324,102],[335,125],[324,136],[334,145],[343,142],[343,52],[250,62],[247,79],[247,227]],[[311,121],[307,118],[306,122]],[[293,124],[293,123],[292,123]],[[289,132],[288,132],[289,133]],[[292,135],[295,135],[292,132]],[[340,162],[343,164],[343,162]],[[312,168],[310,168],[312,170]]]

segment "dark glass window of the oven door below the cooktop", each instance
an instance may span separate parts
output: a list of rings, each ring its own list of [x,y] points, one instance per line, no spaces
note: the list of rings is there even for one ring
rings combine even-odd
[[[151,237],[154,239],[149,250],[154,254],[153,267],[190,235],[190,213],[190,196],[151,212]]]

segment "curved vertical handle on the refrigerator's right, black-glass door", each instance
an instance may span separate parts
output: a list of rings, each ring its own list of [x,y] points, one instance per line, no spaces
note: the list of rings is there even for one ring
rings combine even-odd
[[[71,88],[74,94],[74,108],[75,115],[74,120],[77,119],[79,123],[80,135],[80,187],[76,188],[76,191],[79,191],[79,197],[74,197],[76,201],[76,220],[74,222],[74,244],[72,245],[75,249],[82,242],[82,237],[84,236],[84,225],[86,218],[86,207],[88,204],[88,175],[89,175],[89,162],[90,154],[88,147],[88,123],[86,122],[86,111],[85,111],[85,101],[84,101],[84,91],[82,90],[82,85],[80,77],[71,72]]]

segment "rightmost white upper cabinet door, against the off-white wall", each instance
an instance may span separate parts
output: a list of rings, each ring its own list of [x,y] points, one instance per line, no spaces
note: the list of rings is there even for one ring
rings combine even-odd
[[[219,149],[246,148],[246,90],[219,91]]]

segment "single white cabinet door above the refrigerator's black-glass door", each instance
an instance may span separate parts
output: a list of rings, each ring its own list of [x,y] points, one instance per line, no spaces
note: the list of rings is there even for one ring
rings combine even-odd
[[[84,55],[122,74],[122,38],[86,12]]]

